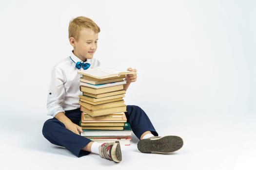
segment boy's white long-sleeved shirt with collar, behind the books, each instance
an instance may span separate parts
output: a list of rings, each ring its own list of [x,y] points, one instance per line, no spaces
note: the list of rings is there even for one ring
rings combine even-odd
[[[74,62],[82,62],[71,52],[70,57]],[[78,68],[70,57],[65,58],[58,63],[52,70],[52,78],[47,97],[47,115],[55,117],[59,112],[73,110],[80,107],[79,82],[81,75],[78,74]],[[90,68],[99,66],[99,61],[95,58],[87,59],[85,63],[90,63]],[[88,69],[90,69],[88,68]],[[82,69],[82,68],[81,68]]]

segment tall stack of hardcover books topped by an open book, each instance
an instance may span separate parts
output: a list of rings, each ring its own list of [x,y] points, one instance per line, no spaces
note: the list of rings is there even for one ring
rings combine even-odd
[[[79,104],[81,113],[81,136],[98,142],[118,140],[121,145],[129,145],[131,127],[124,112],[126,74],[131,71],[118,71],[106,68],[92,68],[78,72],[80,78]]]

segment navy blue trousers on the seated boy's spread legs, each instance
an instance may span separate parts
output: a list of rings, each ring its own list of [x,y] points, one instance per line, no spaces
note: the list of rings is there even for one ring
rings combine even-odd
[[[65,115],[71,119],[72,122],[79,125],[79,121],[81,119],[81,111],[79,108],[65,111]],[[127,112],[125,112],[125,115],[127,122],[131,125],[133,133],[139,139],[140,136],[146,131],[151,131],[154,136],[158,136],[158,133],[156,132],[150,119],[140,107],[135,105],[127,105]],[[66,129],[65,125],[56,118],[48,119],[44,122],[42,134],[51,143],[65,147],[78,157],[90,153],[81,149],[91,142],[91,140]]]

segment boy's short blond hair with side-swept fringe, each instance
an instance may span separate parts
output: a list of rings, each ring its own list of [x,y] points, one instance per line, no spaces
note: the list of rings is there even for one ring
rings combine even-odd
[[[81,17],[76,17],[69,22],[68,38],[74,37],[76,40],[78,40],[80,31],[83,28],[90,28],[95,33],[100,32],[98,25],[92,19],[81,16]]]

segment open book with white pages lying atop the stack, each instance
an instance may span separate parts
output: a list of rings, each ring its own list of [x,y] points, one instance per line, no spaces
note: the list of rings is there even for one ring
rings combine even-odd
[[[137,74],[136,72],[133,72],[133,71],[125,71],[125,70],[118,70],[113,68],[102,68],[102,67],[79,70],[78,73],[82,74],[83,76],[88,76],[96,79],[120,77],[121,75],[126,75],[126,74]]]

